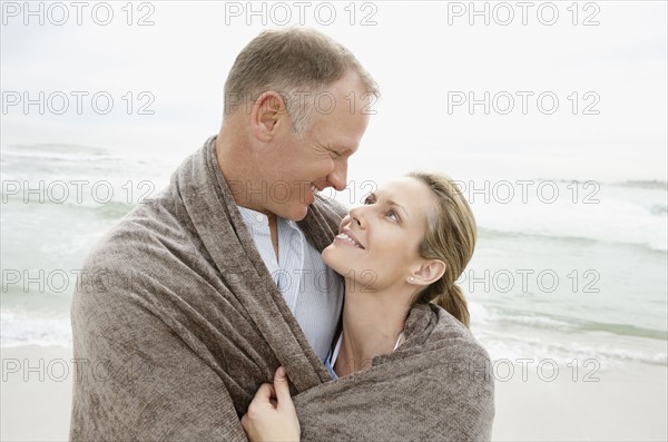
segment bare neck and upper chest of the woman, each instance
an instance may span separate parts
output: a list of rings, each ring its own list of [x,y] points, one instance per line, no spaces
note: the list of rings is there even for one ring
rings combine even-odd
[[[391,353],[409,313],[397,294],[362,293],[360,288],[350,293],[348,288],[346,281],[343,340],[334,365],[340,376],[369,370],[371,360]]]

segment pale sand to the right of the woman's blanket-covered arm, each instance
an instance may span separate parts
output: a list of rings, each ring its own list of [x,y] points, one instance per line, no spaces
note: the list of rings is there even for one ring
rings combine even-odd
[[[666,441],[666,366],[629,363],[602,370],[600,381],[573,381],[561,371],[553,382],[529,370],[497,381],[494,441]]]

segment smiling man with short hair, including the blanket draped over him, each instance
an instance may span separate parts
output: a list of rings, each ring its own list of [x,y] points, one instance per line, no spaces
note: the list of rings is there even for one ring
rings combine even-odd
[[[375,95],[315,31],[239,53],[217,137],[87,258],[70,439],[245,440],[239,416],[278,365],[295,392],[330,380],[342,289],[318,255],[342,213],[316,193],[345,187]]]

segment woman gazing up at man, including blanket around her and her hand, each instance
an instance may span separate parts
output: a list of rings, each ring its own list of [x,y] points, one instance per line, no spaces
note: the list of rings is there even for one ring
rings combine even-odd
[[[324,361],[335,381],[293,399],[279,367],[242,419],[248,438],[490,439],[489,356],[454,285],[475,237],[469,205],[440,175],[410,174],[352,209],[322,254],[345,278],[342,330]]]

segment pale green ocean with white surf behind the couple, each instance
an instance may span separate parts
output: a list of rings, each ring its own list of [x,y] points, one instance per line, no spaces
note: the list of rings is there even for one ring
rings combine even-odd
[[[71,294],[88,251],[164,188],[180,159],[71,145],[1,149],[0,345],[71,346]],[[668,365],[666,181],[459,185],[479,238],[458,283],[495,363],[589,373],[627,361]],[[336,198],[351,203],[345,191]]]

